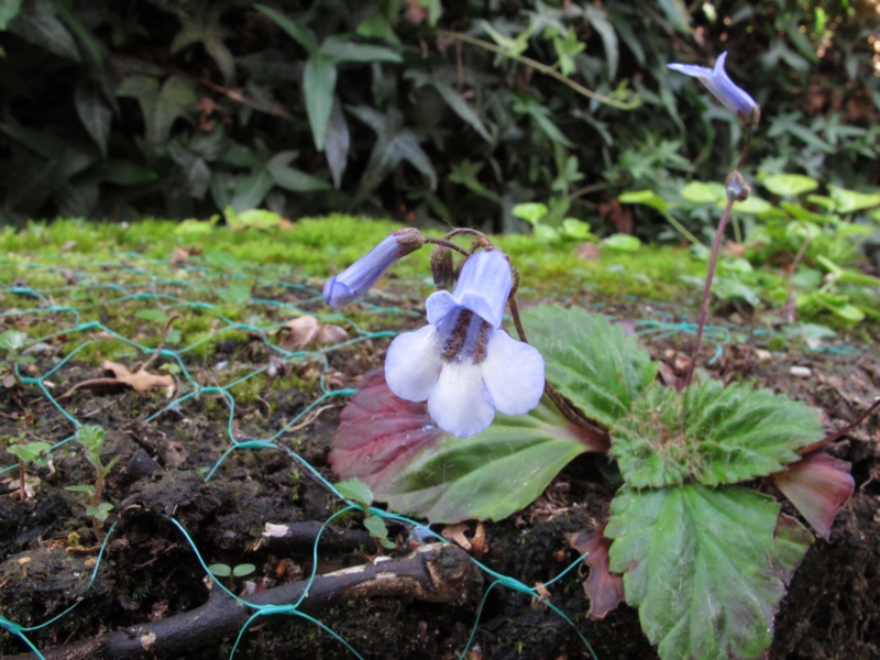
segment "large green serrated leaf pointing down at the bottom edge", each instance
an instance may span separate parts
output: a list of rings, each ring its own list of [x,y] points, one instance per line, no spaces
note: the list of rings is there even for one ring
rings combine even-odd
[[[812,540],[741,486],[622,488],[605,536],[610,570],[663,660],[758,659],[787,581]]]

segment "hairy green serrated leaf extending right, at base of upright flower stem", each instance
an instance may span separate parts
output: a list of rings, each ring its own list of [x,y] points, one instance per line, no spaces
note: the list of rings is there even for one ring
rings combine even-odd
[[[682,395],[653,384],[615,427],[612,455],[636,488],[717,485],[779,472],[823,437],[813,408],[769,389],[707,381]]]

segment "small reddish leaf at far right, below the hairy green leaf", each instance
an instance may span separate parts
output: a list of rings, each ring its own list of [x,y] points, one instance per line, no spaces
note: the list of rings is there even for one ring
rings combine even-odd
[[[849,463],[824,451],[811,453],[773,475],[773,482],[816,532],[827,540],[838,509],[853,495]]]

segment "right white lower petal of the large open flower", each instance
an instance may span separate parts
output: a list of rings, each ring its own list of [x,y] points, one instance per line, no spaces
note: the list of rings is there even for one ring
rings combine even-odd
[[[543,358],[532,345],[495,330],[480,363],[483,384],[492,403],[505,415],[522,415],[538,405],[543,394]]]

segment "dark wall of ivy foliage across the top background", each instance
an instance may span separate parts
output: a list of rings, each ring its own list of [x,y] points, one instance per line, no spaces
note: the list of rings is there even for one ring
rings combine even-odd
[[[271,1],[271,0],[270,0]],[[8,0],[0,219],[392,211],[494,230],[548,201],[629,232],[616,198],[721,179],[738,124],[669,62],[762,106],[751,163],[880,183],[869,0]],[[587,95],[583,86],[590,90]],[[635,230],[672,235],[635,209]],[[604,224],[597,222],[604,220]],[[703,232],[707,218],[684,220]]]

